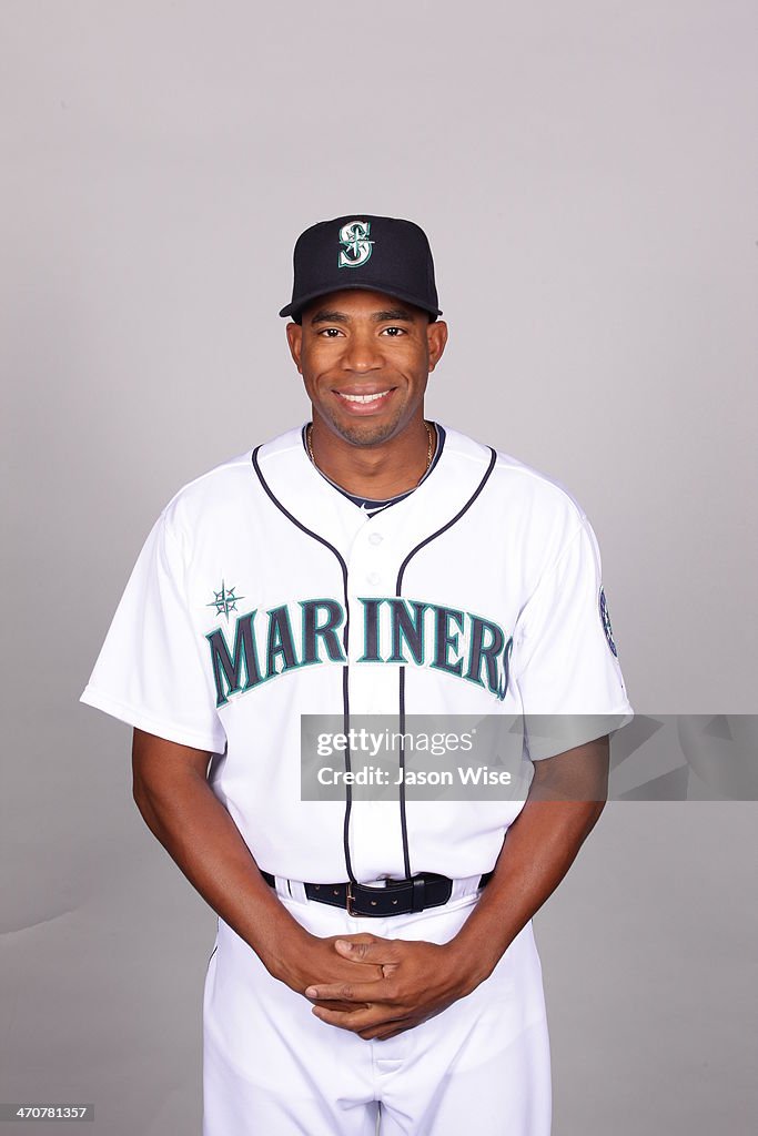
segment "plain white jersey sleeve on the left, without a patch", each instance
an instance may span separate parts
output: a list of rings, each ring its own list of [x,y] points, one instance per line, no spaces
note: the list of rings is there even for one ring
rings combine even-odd
[[[168,506],[153,525],[80,701],[180,745],[223,753],[226,735],[184,596]]]

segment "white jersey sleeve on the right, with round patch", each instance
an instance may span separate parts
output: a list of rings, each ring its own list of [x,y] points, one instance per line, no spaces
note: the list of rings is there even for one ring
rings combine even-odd
[[[631,721],[600,550],[586,516],[543,574],[515,630],[514,678],[533,760]]]

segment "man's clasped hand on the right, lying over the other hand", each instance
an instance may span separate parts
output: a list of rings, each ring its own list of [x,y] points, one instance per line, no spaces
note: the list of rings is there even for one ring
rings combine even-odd
[[[407,939],[350,935],[339,938],[334,949],[344,959],[377,963],[384,977],[374,983],[335,983],[309,986],[306,997],[320,1001],[361,1003],[355,1010],[327,1010],[314,1006],[314,1014],[331,1026],[349,1029],[366,1041],[385,1041],[413,1029],[441,1013],[477,985],[470,963],[465,966],[452,943],[417,943]],[[368,1006],[366,1006],[368,1003]]]

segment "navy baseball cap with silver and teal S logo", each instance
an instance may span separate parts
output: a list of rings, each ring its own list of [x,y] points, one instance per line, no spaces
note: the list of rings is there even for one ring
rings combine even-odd
[[[294,245],[292,301],[280,316],[300,323],[311,300],[345,287],[385,292],[428,311],[442,311],[434,284],[434,261],[426,233],[411,220],[349,214],[322,220]]]

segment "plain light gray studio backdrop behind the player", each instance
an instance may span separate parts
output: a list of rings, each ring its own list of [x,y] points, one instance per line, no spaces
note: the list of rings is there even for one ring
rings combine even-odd
[[[77,699],[168,498],[307,417],[276,316],[295,236],[356,209],[426,228],[451,331],[428,414],[582,502],[638,710],[753,712],[758,19],[0,17],[0,1101],[192,1134],[215,919],[132,804],[128,728]],[[556,1136],[748,1129],[755,826],[750,803],[607,808],[536,919]]]

